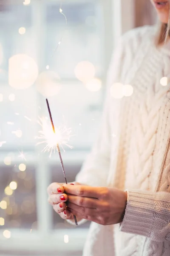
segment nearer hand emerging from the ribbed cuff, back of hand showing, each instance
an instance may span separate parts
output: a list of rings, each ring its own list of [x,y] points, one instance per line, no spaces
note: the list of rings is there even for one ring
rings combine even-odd
[[[68,209],[74,215],[102,225],[122,222],[127,193],[113,188],[63,185]]]

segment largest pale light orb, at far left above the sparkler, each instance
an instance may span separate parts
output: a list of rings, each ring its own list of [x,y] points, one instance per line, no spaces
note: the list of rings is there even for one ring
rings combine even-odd
[[[37,63],[26,54],[17,54],[9,59],[9,85],[23,90],[34,84],[38,76]]]

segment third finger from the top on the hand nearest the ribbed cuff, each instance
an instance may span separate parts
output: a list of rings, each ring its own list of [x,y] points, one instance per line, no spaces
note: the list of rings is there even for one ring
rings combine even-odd
[[[90,215],[90,216],[94,216],[99,213],[99,210],[95,208],[86,208],[86,207],[78,206],[76,204],[71,204],[71,203],[68,203],[67,206],[69,207],[69,209],[71,209],[71,212],[75,215],[77,214],[77,212],[80,213],[81,215]]]

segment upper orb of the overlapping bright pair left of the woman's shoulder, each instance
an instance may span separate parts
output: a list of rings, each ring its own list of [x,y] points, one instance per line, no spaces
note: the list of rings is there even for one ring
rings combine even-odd
[[[90,61],[81,61],[74,69],[75,76],[80,81],[87,83],[95,76],[95,67]]]

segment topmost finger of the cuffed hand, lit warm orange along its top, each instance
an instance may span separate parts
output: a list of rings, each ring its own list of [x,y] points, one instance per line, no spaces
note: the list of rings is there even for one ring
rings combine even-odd
[[[82,186],[82,185],[63,185],[65,192],[71,195],[79,195],[83,197],[90,197],[90,198],[99,198],[100,196],[100,187],[91,187],[91,186]]]

